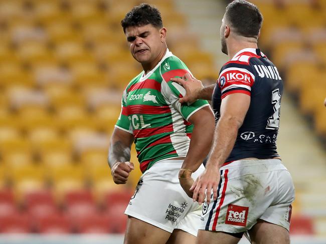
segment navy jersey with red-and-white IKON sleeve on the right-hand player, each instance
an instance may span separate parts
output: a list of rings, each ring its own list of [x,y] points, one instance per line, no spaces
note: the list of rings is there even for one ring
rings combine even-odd
[[[276,137],[283,81],[275,65],[260,49],[245,48],[221,68],[212,97],[217,120],[222,99],[232,93],[245,93],[251,98],[226,162],[247,157],[264,159],[278,156]]]

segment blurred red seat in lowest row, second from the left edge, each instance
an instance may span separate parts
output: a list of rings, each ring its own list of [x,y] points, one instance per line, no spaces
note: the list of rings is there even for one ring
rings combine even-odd
[[[69,233],[70,230],[69,221],[62,214],[44,216],[38,221],[38,231],[40,233]]]

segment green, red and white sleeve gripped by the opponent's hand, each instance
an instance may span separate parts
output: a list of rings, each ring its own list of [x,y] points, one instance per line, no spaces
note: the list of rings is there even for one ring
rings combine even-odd
[[[168,65],[165,65],[168,63]],[[165,66],[170,66],[170,70],[167,70]],[[185,73],[192,73],[187,68],[187,66],[177,58],[173,60],[167,59],[167,61],[163,62],[163,65],[160,67],[161,76],[163,78],[161,84],[161,93],[164,95],[166,100],[168,100],[171,105],[182,114],[182,116],[188,121],[191,115],[197,112],[199,109],[209,106],[207,100],[197,100],[192,104],[180,103],[179,98],[185,96],[186,90],[180,84],[171,81],[170,79],[173,77],[179,77],[185,75]]]

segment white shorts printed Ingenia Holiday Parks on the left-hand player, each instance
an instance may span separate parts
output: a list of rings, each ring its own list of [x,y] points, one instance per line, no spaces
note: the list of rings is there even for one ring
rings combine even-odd
[[[183,160],[156,162],[140,177],[125,214],[173,232],[182,229],[197,236],[202,207],[193,202],[179,183]],[[193,173],[197,178],[204,165]]]

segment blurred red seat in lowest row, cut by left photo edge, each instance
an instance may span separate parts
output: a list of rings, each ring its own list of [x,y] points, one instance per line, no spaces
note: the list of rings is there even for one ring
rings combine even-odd
[[[14,213],[0,218],[0,232],[2,233],[28,233],[30,224],[26,214]]]

